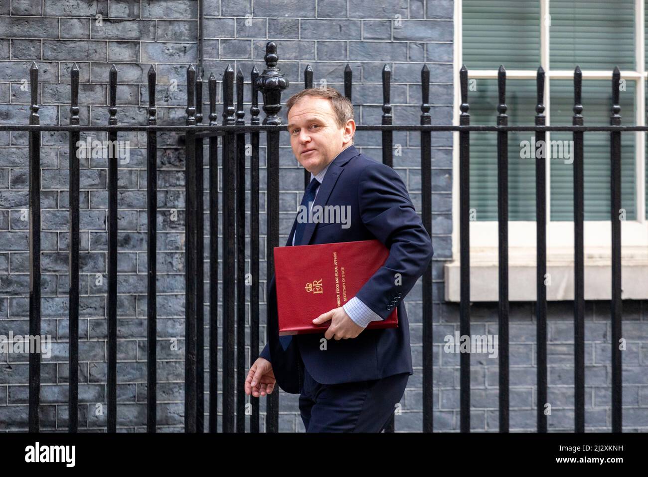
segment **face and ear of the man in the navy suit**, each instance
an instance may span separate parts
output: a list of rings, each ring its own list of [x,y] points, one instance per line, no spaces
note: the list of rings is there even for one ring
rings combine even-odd
[[[288,112],[290,145],[299,164],[317,174],[351,145],[356,130],[353,119],[341,128],[327,98],[305,96]]]

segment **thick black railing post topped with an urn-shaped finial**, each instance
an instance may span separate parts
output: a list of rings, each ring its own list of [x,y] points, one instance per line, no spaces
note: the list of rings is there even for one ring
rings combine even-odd
[[[264,125],[281,125],[281,92],[288,88],[288,80],[277,67],[277,45],[266,43],[266,68],[257,79],[257,86],[263,95]],[[266,134],[266,280],[273,278],[275,271],[274,248],[279,247],[279,130]],[[266,301],[267,303],[267,301]],[[279,431],[279,393],[267,396],[266,432]]]

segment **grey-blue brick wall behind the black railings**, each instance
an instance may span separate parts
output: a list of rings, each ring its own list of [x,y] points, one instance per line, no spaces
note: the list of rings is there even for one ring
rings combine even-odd
[[[347,62],[354,73],[353,103],[358,124],[378,124],[382,110],[384,64],[392,71],[394,123],[418,123],[420,71],[430,67],[432,123],[452,121],[451,0],[205,0],[205,79],[222,77],[227,64],[262,70],[264,47],[275,40],[280,66],[291,85],[283,101],[303,88],[310,64],[316,86],[327,82],[343,91]],[[198,60],[198,2],[195,0],[1,0],[0,121],[26,124],[29,116],[30,62],[40,67],[39,103],[43,124],[67,124],[69,71],[80,67],[82,124],[106,124],[108,69],[119,69],[117,117],[120,123],[146,121],[146,72],[157,69],[159,124],[183,123],[186,67]],[[220,84],[219,84],[220,86]],[[205,98],[206,95],[205,88]],[[246,114],[249,84],[246,85]],[[220,101],[220,92],[218,101]],[[282,113],[285,118],[284,112]],[[219,107],[220,115],[220,107]],[[220,117],[219,117],[220,121]],[[42,188],[42,333],[52,336],[51,358],[41,366],[41,428],[67,428],[67,135],[44,133]],[[86,135],[82,134],[82,139]],[[102,139],[103,137],[99,137]],[[146,171],[144,134],[121,133],[130,141],[130,163],[119,169],[118,430],[142,432],[146,424]],[[356,147],[380,160],[380,134],[358,132]],[[419,135],[396,132],[402,146],[394,167],[421,210]],[[458,307],[443,302],[443,263],[451,257],[452,135],[432,135],[434,275],[434,422],[435,429],[459,429],[459,357],[443,352],[444,338],[458,330]],[[158,422],[161,432],[183,430],[184,334],[184,158],[174,134],[158,136]],[[285,241],[303,193],[303,169],[290,144],[281,148],[281,240]],[[260,157],[265,181],[265,153]],[[0,132],[0,334],[29,331],[27,221],[27,134]],[[106,161],[91,158],[81,169],[80,280],[80,428],[106,425]],[[207,201],[205,174],[205,204]],[[222,198],[221,198],[222,199]],[[265,230],[262,190],[260,227]],[[220,200],[222,204],[222,200]],[[178,220],[170,214],[178,210]],[[249,197],[248,197],[249,210]],[[248,217],[249,218],[249,217]],[[208,230],[209,210],[205,210]],[[249,230],[249,228],[248,228]],[[281,242],[283,243],[283,242]],[[205,238],[205,252],[209,252]],[[260,254],[265,256],[264,236]],[[205,297],[209,297],[208,259]],[[260,266],[262,297],[266,268]],[[102,282],[99,278],[102,278]],[[410,377],[396,416],[397,431],[422,425],[421,280],[406,300],[415,374]],[[222,297],[222,293],[219,293]],[[586,321],[586,426],[610,430],[610,323],[607,303],[588,303]],[[570,303],[551,303],[549,321],[550,430],[573,428],[573,324]],[[260,306],[261,340],[265,306]],[[208,316],[209,304],[205,304]],[[648,430],[648,306],[624,303],[624,430]],[[533,304],[511,304],[511,430],[535,430],[535,318]],[[208,324],[208,323],[206,323]],[[472,306],[473,334],[497,333],[495,304]],[[205,337],[209,328],[205,328]],[[171,340],[178,339],[178,349]],[[220,348],[219,348],[220,351]],[[209,369],[205,349],[205,370]],[[248,354],[249,357],[249,354]],[[0,430],[27,428],[27,354],[0,354]],[[219,363],[222,358],[219,356]],[[246,370],[249,363],[246,363]],[[472,428],[498,429],[498,360],[476,354],[472,360]],[[219,370],[220,371],[220,370]],[[209,373],[205,380],[209,379]],[[219,387],[220,374],[219,374]],[[207,393],[206,393],[207,394]],[[282,431],[303,431],[297,395],[280,391]],[[220,411],[220,394],[218,397]],[[104,415],[98,413],[103,403]],[[261,400],[262,425],[266,400]],[[205,396],[205,410],[209,395]],[[207,419],[205,419],[207,422]],[[206,424],[205,424],[206,425]]]

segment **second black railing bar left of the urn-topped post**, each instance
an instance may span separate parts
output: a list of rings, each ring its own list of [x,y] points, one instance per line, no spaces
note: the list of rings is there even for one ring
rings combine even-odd
[[[237,72],[237,125],[245,124],[243,110],[243,72]],[[237,432],[245,432],[245,132],[236,135],[237,171]]]

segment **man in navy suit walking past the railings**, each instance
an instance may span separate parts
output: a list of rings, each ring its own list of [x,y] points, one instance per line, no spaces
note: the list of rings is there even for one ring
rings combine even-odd
[[[316,324],[330,321],[323,337],[279,336],[273,276],[268,343],[245,391],[265,396],[278,383],[286,393],[300,393],[307,432],[380,432],[413,374],[403,300],[432,260],[432,241],[398,173],[353,146],[356,124],[347,98],[333,88],[310,88],[286,107],[292,151],[311,175],[301,208],[340,206],[350,214],[348,223],[305,222],[297,215],[286,246],[378,239],[389,256],[355,297],[313,317]],[[393,307],[398,328],[365,330]]]

